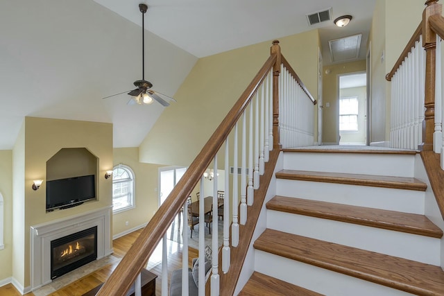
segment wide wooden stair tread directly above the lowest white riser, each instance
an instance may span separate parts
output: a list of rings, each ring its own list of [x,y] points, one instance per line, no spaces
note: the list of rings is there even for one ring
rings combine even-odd
[[[408,293],[444,295],[444,272],[439,266],[273,229],[266,229],[254,247]]]

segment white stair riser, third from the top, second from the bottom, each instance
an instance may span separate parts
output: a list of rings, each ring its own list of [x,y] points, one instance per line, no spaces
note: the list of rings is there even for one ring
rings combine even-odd
[[[281,232],[422,263],[441,264],[441,241],[439,238],[271,210],[267,211],[267,220],[267,228]]]

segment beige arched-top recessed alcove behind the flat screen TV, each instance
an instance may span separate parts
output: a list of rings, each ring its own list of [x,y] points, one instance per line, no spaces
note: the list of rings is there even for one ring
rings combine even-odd
[[[49,188],[48,182],[54,180],[67,180],[68,178],[94,175],[92,181],[94,188],[92,190],[95,192],[93,194],[94,197],[96,197],[98,168],[99,159],[89,152],[87,148],[62,148],[46,162],[46,187]],[[93,200],[95,199],[93,198]],[[48,197],[46,202],[48,202]],[[46,206],[48,211],[48,204]]]

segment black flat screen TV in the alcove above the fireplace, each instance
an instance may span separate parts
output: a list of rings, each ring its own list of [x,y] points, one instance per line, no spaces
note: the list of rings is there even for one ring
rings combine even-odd
[[[95,198],[94,175],[46,181],[46,211],[74,207]]]

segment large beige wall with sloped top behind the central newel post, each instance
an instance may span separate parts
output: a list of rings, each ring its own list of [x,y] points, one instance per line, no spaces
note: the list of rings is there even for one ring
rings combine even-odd
[[[262,67],[270,46],[262,42],[198,60],[175,94],[178,102],[164,110],[142,142],[140,161],[189,166]],[[283,37],[280,46],[316,98],[318,31]]]

